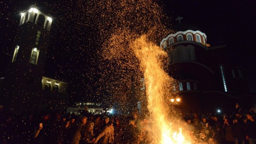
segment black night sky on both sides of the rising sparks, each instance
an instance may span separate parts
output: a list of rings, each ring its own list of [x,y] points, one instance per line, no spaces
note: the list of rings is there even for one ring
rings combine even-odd
[[[158,3],[169,17],[168,27],[177,24],[175,19],[180,15],[184,17],[181,23],[201,28],[210,45],[227,44],[233,64],[247,70],[251,91],[256,92],[255,0],[164,0]],[[78,25],[76,16],[81,12],[76,9],[81,5],[76,0],[0,1],[0,77],[4,77],[6,61],[12,56],[20,12],[33,4],[53,17],[44,75],[69,82],[71,102],[99,101],[97,50],[102,43],[99,31],[91,26],[93,23],[87,23],[83,31],[74,28]],[[77,43],[77,39],[83,39],[83,43]]]

